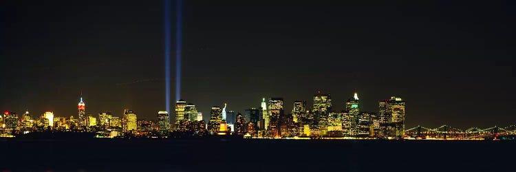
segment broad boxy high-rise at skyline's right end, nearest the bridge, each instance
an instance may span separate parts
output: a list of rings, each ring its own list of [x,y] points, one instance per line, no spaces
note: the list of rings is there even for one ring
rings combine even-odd
[[[378,116],[380,136],[401,137],[405,134],[405,100],[392,96],[380,101]]]

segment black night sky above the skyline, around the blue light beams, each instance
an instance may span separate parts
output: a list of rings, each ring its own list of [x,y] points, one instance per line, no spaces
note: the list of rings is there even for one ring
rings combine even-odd
[[[76,116],[81,90],[91,114],[165,109],[162,1],[2,3],[1,111]],[[356,88],[365,111],[407,100],[407,127],[516,121],[514,2],[184,4],[182,98],[205,115],[318,90],[341,111]]]

